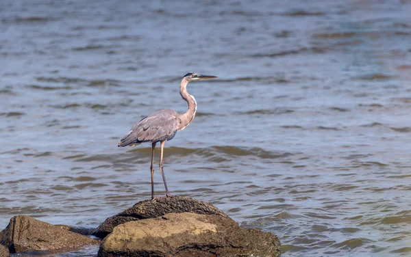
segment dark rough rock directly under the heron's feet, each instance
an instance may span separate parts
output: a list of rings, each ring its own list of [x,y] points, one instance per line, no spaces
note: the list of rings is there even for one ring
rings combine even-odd
[[[225,213],[218,208],[192,198],[175,196],[172,198],[159,198],[157,200],[145,200],[134,204],[132,208],[109,217],[92,234],[103,239],[110,234],[116,226],[128,221],[140,219],[151,219],[161,217],[167,213],[197,213],[208,215],[219,215],[229,219]]]

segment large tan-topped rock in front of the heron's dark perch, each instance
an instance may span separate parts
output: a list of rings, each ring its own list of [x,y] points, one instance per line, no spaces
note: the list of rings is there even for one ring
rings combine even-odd
[[[98,257],[279,256],[276,236],[240,228],[222,215],[169,213],[116,226]]]

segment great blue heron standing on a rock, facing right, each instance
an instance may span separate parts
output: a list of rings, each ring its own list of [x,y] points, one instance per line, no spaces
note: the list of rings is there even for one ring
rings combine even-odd
[[[197,111],[197,102],[194,96],[188,94],[187,84],[191,81],[198,81],[201,79],[213,79],[216,76],[200,75],[195,72],[188,72],[182,79],[180,84],[180,94],[182,98],[188,103],[186,113],[179,114],[173,110],[161,110],[142,118],[140,122],[134,124],[132,129],[124,135],[119,142],[119,147],[135,146],[137,144],[151,142],[151,199],[154,199],[154,150],[155,144],[160,142],[160,172],[166,187],[166,197],[170,197],[169,189],[167,188],[166,177],[163,171],[163,150],[166,141],[173,139],[177,131],[182,131],[194,119]]]

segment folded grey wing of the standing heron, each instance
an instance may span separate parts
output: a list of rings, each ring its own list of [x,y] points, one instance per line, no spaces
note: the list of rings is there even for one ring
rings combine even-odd
[[[178,126],[179,120],[175,111],[157,111],[134,124],[132,130],[120,140],[119,146],[170,140],[177,132]]]

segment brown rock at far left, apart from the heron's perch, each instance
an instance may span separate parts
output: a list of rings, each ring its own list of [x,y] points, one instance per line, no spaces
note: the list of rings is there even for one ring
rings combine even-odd
[[[0,243],[8,247],[10,252],[19,253],[29,250],[71,251],[84,245],[99,244],[99,241],[60,226],[20,215],[12,217],[7,228],[0,232]]]

